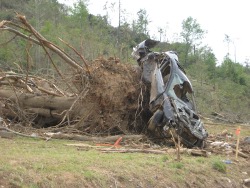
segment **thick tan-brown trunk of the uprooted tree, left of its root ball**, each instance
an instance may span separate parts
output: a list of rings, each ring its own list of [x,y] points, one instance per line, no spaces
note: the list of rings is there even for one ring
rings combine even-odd
[[[0,99],[3,101],[0,113],[3,117],[18,120],[42,117],[57,123],[71,121],[84,116],[90,110],[88,101],[81,102],[81,97],[37,95],[3,88],[0,90]]]

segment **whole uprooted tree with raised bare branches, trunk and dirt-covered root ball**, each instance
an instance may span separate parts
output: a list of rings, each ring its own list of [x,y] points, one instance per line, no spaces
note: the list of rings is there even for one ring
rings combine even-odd
[[[48,80],[25,71],[2,71],[2,117],[38,128],[68,126],[78,133],[107,135],[144,130],[147,118],[141,118],[146,112],[141,108],[140,70],[121,64],[117,58],[101,57],[87,62],[74,47],[60,39],[79,57],[82,61],[80,65],[36,31],[25,16],[17,14],[16,18],[16,22],[0,22],[0,32],[10,32],[40,45],[58,77]],[[49,51],[69,66],[67,74],[53,62]]]

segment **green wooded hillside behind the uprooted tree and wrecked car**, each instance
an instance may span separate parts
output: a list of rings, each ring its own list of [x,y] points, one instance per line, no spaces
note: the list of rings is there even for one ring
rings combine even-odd
[[[100,56],[117,57],[121,63],[136,65],[130,55],[132,48],[152,38],[148,34],[148,15],[143,9],[138,10],[138,17],[132,23],[121,14],[119,26],[113,27],[109,22],[109,10],[106,10],[106,16],[93,15],[88,11],[87,1],[78,1],[73,7],[57,0],[0,1],[0,21],[14,20],[15,11],[25,15],[48,40],[67,51],[67,46],[59,40],[61,38],[89,62]],[[162,34],[163,30],[159,29],[159,35]],[[198,111],[202,116],[220,114],[220,118],[230,122],[249,122],[249,62],[240,64],[230,59],[229,54],[225,54],[223,62],[217,62],[213,49],[202,45],[205,35],[206,31],[197,20],[188,17],[183,20],[179,33],[182,40],[163,41],[154,51],[174,50],[178,53],[179,61],[194,86]],[[230,36],[225,35],[225,42],[229,45]],[[54,63],[66,73],[68,67],[56,54],[50,53]],[[0,32],[0,69],[26,71],[48,78],[57,76],[42,47],[3,31]]]

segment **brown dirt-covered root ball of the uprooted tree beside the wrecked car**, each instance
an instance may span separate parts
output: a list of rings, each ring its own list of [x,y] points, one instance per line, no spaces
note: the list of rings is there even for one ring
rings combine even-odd
[[[140,69],[112,58],[91,64],[89,92],[83,107],[90,109],[78,129],[88,133],[126,133],[135,120]]]

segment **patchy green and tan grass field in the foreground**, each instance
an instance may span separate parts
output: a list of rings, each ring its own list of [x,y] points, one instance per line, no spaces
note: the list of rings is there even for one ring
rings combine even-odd
[[[250,177],[249,158],[225,164],[226,155],[183,154],[176,161],[174,153],[102,153],[66,145],[72,143],[83,142],[0,138],[0,187],[242,187]]]

